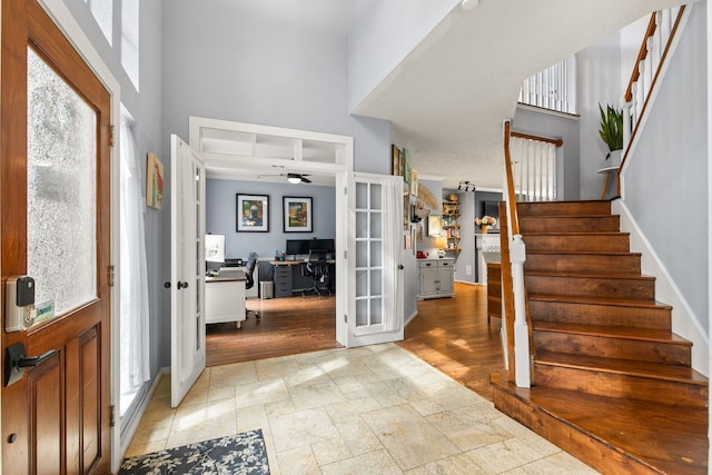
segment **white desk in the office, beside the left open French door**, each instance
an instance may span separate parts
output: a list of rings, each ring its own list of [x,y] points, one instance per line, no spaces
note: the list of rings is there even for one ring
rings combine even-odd
[[[229,277],[206,277],[205,279],[205,323],[220,324],[235,321],[237,328],[245,320],[244,273],[230,273]]]

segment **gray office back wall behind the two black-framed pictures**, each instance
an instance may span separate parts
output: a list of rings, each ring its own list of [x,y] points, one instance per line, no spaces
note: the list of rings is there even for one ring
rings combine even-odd
[[[236,231],[236,195],[269,196],[269,231]],[[314,232],[284,232],[283,197],[310,197]],[[247,260],[255,251],[271,258],[285,250],[287,239],[334,239],[336,237],[336,195],[334,187],[280,185],[209,178],[206,186],[206,232],[225,235],[225,256]]]

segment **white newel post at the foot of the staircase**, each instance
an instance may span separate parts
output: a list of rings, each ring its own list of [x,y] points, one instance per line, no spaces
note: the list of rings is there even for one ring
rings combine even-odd
[[[531,387],[530,373],[530,331],[526,324],[526,304],[524,300],[524,261],[526,247],[522,235],[514,235],[510,244],[512,264],[512,286],[514,288],[514,358],[515,382],[518,387]]]

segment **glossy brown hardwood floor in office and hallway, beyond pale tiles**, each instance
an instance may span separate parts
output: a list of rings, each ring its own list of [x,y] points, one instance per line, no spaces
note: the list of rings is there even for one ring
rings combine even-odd
[[[208,366],[338,348],[335,297],[249,299],[249,315],[235,324],[208,325]],[[487,324],[486,287],[455,284],[453,298],[418,303],[403,348],[492,400],[490,374],[503,368],[500,320]]]

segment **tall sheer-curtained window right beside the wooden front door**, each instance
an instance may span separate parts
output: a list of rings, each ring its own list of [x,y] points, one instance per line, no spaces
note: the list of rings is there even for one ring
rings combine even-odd
[[[120,191],[120,373],[123,416],[150,378],[148,276],[144,240],[141,166],[128,119],[121,119],[121,191]]]

